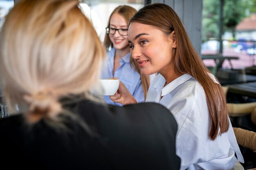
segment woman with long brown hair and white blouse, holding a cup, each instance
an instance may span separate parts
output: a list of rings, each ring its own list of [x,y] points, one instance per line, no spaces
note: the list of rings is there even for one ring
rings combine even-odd
[[[235,153],[243,162],[222,87],[193,48],[175,11],[166,4],[143,7],[130,20],[128,39],[141,73],[159,73],[146,102],[160,103],[175,115],[180,169],[231,170]],[[122,83],[110,98],[124,105],[136,102]]]

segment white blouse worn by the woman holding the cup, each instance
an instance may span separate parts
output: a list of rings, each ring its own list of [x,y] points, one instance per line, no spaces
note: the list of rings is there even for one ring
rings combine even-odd
[[[178,124],[176,153],[181,159],[180,170],[232,170],[235,152],[243,163],[230,120],[227,132],[214,141],[209,138],[211,118],[201,84],[188,74],[164,87],[165,82],[162,75],[155,77],[146,102],[160,103],[173,113]]]

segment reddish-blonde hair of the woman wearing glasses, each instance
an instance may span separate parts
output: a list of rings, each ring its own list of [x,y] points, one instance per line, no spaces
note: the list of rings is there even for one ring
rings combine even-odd
[[[128,6],[128,5],[120,5],[118,7],[116,7],[112,13],[110,14],[110,17],[108,19],[108,26],[110,26],[110,18],[112,17],[112,15],[114,13],[118,13],[119,15],[121,15],[122,17],[124,17],[124,19],[126,20],[127,24],[129,23],[130,18],[132,18],[132,16],[137,12],[136,9]],[[106,47],[106,50],[110,49],[113,47],[113,43],[111,42],[109,35],[106,33],[105,38],[104,38],[104,42],[103,44]],[[140,68],[139,65],[137,64],[137,62],[135,62],[132,57],[131,57],[131,53],[130,53],[130,66],[132,67],[132,69],[134,69],[135,71],[137,71],[140,74],[141,77],[141,84],[143,87],[143,91],[144,91],[144,98],[146,99],[146,95],[148,93],[148,87],[149,87],[149,76],[147,75],[142,75],[140,72]]]

